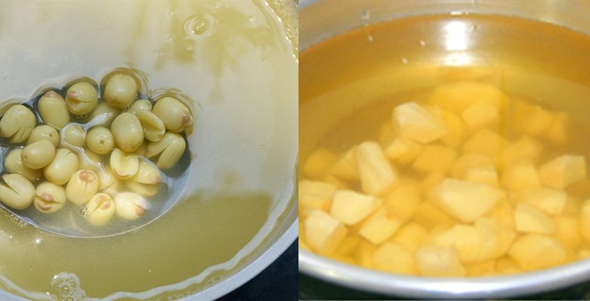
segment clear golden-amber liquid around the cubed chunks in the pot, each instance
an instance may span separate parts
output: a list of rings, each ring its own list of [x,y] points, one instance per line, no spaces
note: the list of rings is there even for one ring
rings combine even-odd
[[[449,37],[453,22],[462,25],[458,35],[463,40],[458,43],[465,43],[464,49],[452,49],[461,47],[456,34],[454,42]],[[589,158],[590,143],[584,134],[590,129],[589,51],[590,38],[580,33],[509,17],[472,15],[411,17],[328,39],[301,55],[301,167],[319,148],[342,154],[363,141],[379,141],[381,128],[391,121],[393,107],[409,101],[425,104],[435,87],[460,80],[491,84],[511,100],[570,114],[567,144],[544,143],[540,162],[564,153]],[[508,103],[506,111],[510,112]],[[526,121],[515,120],[510,114],[501,118],[493,130],[513,141],[517,137],[513,125]],[[401,176],[418,180],[426,176],[398,168]],[[302,174],[303,178],[308,176]],[[358,183],[345,185],[360,190]],[[590,190],[577,185],[568,192],[575,196],[568,199],[569,213],[577,215]],[[349,239],[356,242],[326,255],[379,269],[365,256],[375,247],[358,236],[355,227],[349,229],[348,236],[358,240]],[[580,252],[589,247],[579,233],[573,236],[579,248],[569,250],[568,261],[583,258]],[[300,237],[305,242],[301,233]]]

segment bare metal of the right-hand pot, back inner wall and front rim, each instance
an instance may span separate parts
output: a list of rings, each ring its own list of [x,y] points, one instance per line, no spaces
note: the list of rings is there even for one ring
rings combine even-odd
[[[481,13],[511,15],[590,34],[588,1],[301,1],[302,49],[340,33],[411,15]],[[393,275],[332,261],[300,249],[305,274],[363,291],[411,298],[505,298],[563,288],[590,279],[590,260],[521,275],[433,278]]]

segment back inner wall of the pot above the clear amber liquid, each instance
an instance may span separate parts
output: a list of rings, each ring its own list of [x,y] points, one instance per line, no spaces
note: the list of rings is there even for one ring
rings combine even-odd
[[[335,0],[302,0],[300,6],[301,49],[350,29],[410,15],[464,13],[510,15],[559,24],[576,31],[590,33],[590,18],[587,17],[590,7],[585,0],[366,0],[346,3]],[[362,17],[361,13],[368,17]]]

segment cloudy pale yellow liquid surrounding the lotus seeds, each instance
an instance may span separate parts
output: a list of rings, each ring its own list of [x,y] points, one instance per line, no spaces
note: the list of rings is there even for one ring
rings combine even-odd
[[[71,4],[0,4],[0,98],[22,102],[80,76],[100,82],[117,67],[142,70],[150,88],[161,88],[142,93],[174,87],[195,100],[190,176],[176,207],[121,236],[63,238],[0,215],[0,288],[41,300],[202,291],[243,268],[289,208],[297,152],[292,3]],[[15,17],[27,14],[35,26]],[[118,29],[109,28],[114,22]],[[34,68],[39,61],[46,63]]]

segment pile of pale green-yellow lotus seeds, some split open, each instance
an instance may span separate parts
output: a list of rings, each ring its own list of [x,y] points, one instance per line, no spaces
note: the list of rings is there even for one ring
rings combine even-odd
[[[181,134],[190,130],[192,114],[173,97],[137,100],[138,91],[137,79],[115,72],[100,99],[98,88],[82,80],[65,95],[47,91],[36,109],[10,107],[0,119],[0,137],[10,144],[0,201],[16,210],[33,203],[40,213],[70,201],[95,226],[114,215],[144,215],[146,197],[165,177],[160,169],[172,169],[186,150]]]

